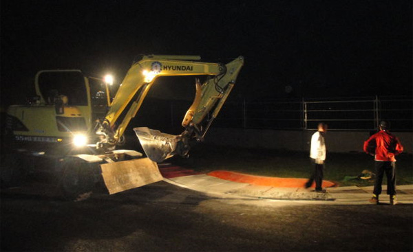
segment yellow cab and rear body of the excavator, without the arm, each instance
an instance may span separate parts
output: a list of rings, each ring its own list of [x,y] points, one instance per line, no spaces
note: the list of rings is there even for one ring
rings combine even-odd
[[[92,130],[89,81],[79,70],[44,70],[34,78],[36,96],[9,106],[6,128],[14,146],[28,152],[71,154],[79,135]]]

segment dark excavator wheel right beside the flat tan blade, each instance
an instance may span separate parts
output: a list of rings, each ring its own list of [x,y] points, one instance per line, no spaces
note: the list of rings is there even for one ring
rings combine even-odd
[[[92,194],[94,166],[76,157],[65,158],[62,165],[61,189],[65,199],[81,201]]]

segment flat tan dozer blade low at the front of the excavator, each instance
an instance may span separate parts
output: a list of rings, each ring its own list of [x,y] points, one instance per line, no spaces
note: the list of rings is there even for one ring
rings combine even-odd
[[[105,163],[100,168],[109,194],[162,180],[158,165],[147,158]]]

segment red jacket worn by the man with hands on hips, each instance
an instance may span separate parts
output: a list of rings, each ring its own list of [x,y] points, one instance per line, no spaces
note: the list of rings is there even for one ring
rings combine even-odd
[[[363,150],[366,153],[374,154],[374,160],[394,162],[396,161],[394,156],[403,152],[403,146],[392,133],[380,130],[364,142]]]

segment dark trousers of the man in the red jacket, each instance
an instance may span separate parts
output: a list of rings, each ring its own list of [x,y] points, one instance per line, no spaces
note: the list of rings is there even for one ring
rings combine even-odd
[[[396,195],[396,162],[374,161],[376,168],[376,181],[374,181],[373,194],[379,196],[381,194],[381,183],[383,182],[383,174],[388,178],[388,194]]]

